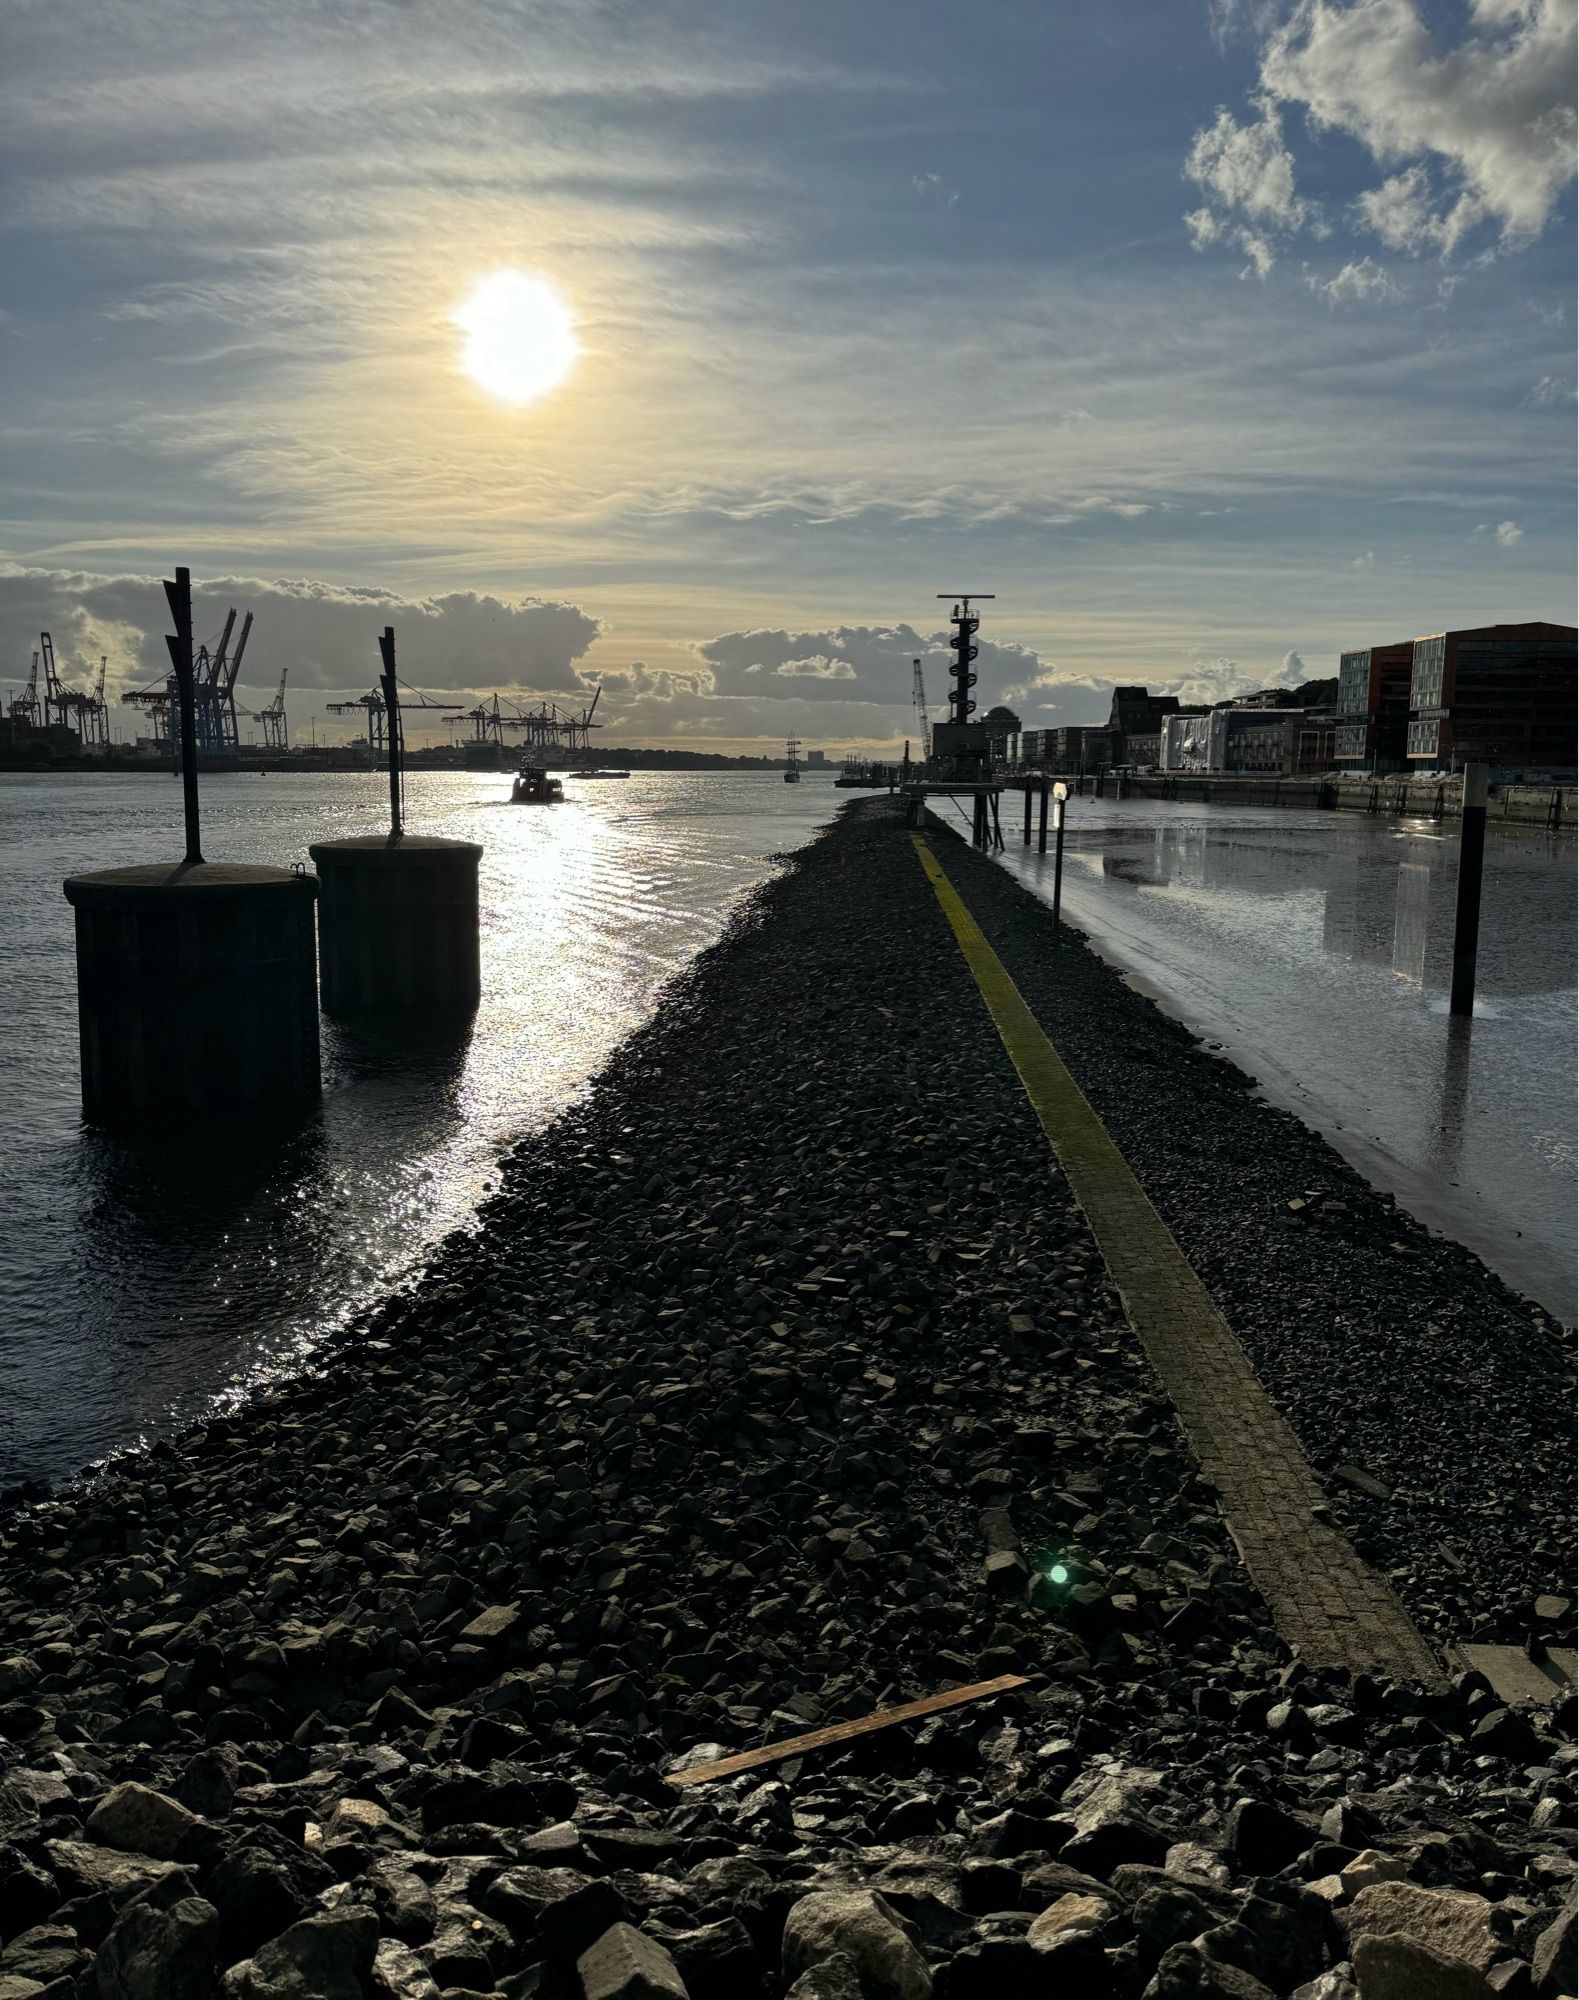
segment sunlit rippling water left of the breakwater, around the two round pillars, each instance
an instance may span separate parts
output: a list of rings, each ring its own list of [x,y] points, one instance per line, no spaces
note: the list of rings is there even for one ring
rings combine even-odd
[[[204,778],[210,860],[288,866],[388,824],[368,774]],[[410,782],[422,832],[484,842],[484,1002],[464,1042],[324,1034],[322,1112],[256,1158],[82,1126],[64,876],[180,852],[168,776],[0,776],[0,1486],[66,1476],[306,1354],[464,1224],[542,1126],[845,794],[831,776],[638,772],[512,808],[502,774]]]

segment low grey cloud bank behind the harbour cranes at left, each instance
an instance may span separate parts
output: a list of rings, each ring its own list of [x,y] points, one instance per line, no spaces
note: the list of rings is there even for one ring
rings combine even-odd
[[[242,680],[266,688],[282,668],[292,688],[370,688],[378,634],[392,624],[400,674],[412,686],[570,692],[582,686],[576,662],[600,630],[578,604],[542,598],[474,590],[408,598],[310,578],[216,576],[192,586],[200,642],[218,640],[232,604],[254,614]],[[86,678],[100,654],[110,656],[110,688],[146,686],[170,670],[170,610],[158,576],[4,566],[0,620],[8,630],[50,632],[68,678]]]

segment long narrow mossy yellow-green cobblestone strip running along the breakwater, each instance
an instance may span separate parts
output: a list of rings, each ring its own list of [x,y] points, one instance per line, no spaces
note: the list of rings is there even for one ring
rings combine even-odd
[[[1277,1630],[1315,1666],[1439,1680],[1387,1582],[1315,1510],[1321,1484],[1107,1128],[1025,1006],[921,836],[921,868],[1069,1176],[1123,1310],[1173,1398],[1201,1472]]]

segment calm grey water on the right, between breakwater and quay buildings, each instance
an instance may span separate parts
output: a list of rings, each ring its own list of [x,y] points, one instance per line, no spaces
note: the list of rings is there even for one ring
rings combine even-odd
[[[1017,804],[1017,800],[1013,800]],[[1003,856],[1051,896],[1053,856]],[[1063,908],[1413,1214],[1575,1316],[1575,844],[1487,840],[1475,1016],[1447,1014],[1457,828],[1069,800]]]

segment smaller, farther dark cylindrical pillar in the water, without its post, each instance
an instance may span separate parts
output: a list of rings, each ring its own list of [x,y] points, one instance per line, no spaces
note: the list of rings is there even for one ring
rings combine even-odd
[[[466,1014],[482,996],[472,840],[364,834],[308,850],[330,1014]]]

